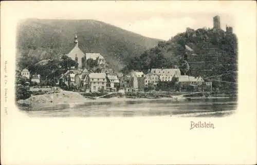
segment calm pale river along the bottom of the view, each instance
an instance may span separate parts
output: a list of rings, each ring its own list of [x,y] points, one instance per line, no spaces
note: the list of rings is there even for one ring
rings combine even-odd
[[[219,101],[191,100],[171,102],[170,100],[133,100],[115,102],[86,102],[70,104],[43,110],[20,107],[30,117],[135,117],[135,116],[177,116],[177,117],[223,117],[234,113],[237,102],[232,99]]]

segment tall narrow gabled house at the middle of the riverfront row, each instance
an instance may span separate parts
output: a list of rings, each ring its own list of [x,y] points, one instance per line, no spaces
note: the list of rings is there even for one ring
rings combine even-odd
[[[129,87],[133,88],[134,91],[143,91],[144,90],[144,74],[143,72],[131,71],[130,75],[130,84]]]

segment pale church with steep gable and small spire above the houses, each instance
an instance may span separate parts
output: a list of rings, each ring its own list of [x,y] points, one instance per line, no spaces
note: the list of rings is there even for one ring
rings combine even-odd
[[[77,35],[75,35],[74,44],[75,44],[74,48],[66,55],[78,62],[79,69],[86,68],[86,60],[89,58],[97,60],[98,65],[105,64],[105,60],[100,53],[83,53],[83,51],[79,48]]]

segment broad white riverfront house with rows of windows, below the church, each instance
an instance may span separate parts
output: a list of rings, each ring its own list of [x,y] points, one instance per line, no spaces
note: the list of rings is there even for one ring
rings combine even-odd
[[[85,77],[84,86],[90,92],[100,92],[101,89],[106,90],[106,82],[105,73],[89,73]]]

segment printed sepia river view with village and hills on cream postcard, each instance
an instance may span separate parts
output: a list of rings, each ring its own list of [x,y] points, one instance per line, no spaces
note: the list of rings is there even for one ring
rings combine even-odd
[[[27,18],[16,105],[40,116],[224,117],[237,105],[237,37],[221,13]]]

